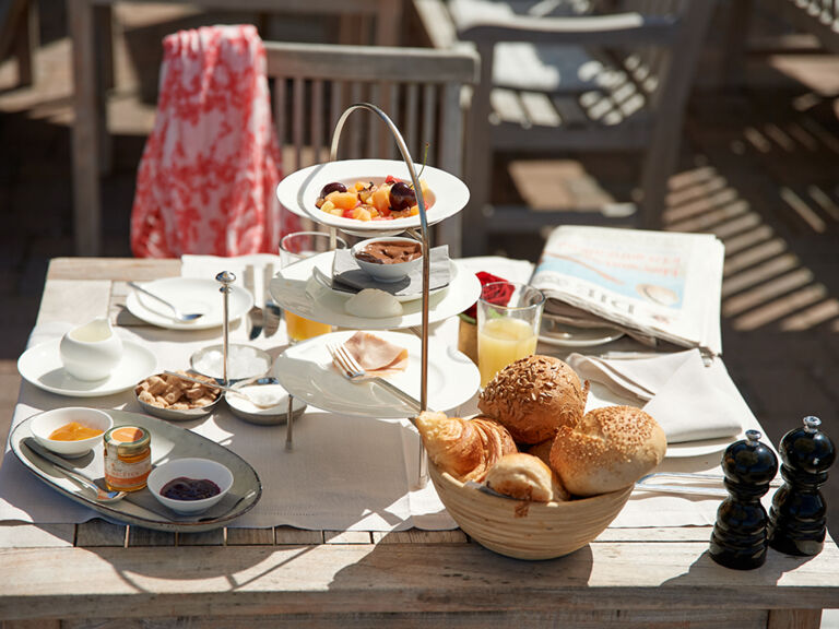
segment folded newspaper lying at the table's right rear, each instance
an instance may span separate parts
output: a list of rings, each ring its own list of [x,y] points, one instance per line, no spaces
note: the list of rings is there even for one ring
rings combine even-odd
[[[568,325],[719,355],[723,259],[712,234],[563,226],[530,283],[547,297],[545,316]]]

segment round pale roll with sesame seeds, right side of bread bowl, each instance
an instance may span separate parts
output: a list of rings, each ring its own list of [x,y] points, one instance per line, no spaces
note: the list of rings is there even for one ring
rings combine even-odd
[[[634,484],[658,467],[666,449],[664,430],[647,413],[607,406],[559,428],[551,467],[572,495],[595,496]]]

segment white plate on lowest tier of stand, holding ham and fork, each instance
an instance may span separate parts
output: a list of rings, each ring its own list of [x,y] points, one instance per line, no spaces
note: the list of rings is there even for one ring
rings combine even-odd
[[[292,345],[274,360],[274,377],[295,397],[317,408],[344,415],[379,419],[411,417],[415,412],[386,389],[373,382],[351,382],[332,366],[328,343],[343,343],[354,330],[332,332]],[[403,332],[374,332],[376,336],[407,349],[407,367],[387,380],[420,399],[422,342]],[[477,391],[477,367],[457,349],[432,340],[428,345],[428,407],[457,408]]]

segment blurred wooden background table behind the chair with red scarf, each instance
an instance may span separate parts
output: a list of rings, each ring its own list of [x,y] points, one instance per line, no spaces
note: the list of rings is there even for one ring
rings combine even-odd
[[[109,159],[105,87],[111,68],[110,7],[117,0],[68,0],[68,28],[73,40],[74,122],[73,237],[75,253],[97,256],[102,249],[99,170]],[[202,9],[375,17],[374,41],[399,44],[402,0],[163,0]],[[351,39],[355,43],[355,39]]]

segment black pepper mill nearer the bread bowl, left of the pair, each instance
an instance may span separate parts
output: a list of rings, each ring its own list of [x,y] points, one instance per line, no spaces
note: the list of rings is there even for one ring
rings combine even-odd
[[[725,449],[722,473],[729,498],[717,510],[711,533],[711,559],[726,568],[751,570],[766,561],[767,522],[760,497],[778,472],[778,458],[760,442],[760,432]]]

